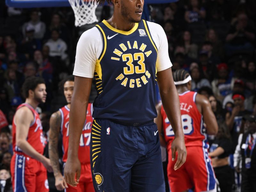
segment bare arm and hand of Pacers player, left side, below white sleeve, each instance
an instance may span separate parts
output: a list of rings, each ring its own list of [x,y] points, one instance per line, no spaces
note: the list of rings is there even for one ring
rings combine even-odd
[[[68,160],[64,168],[65,181],[73,187],[78,184],[81,172],[78,147],[86,119],[91,86],[92,78],[75,76],[74,92],[69,112]]]

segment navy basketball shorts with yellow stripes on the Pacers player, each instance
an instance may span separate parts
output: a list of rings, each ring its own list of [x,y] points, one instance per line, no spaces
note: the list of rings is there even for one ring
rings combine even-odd
[[[165,192],[157,126],[94,119],[92,180],[96,192]]]

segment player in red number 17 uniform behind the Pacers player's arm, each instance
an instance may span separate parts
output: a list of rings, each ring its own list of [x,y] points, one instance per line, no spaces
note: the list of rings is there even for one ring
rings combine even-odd
[[[92,183],[92,173],[90,164],[90,136],[92,129],[92,103],[88,104],[86,121],[83,132],[80,138],[80,146],[78,148],[78,157],[81,162],[81,176],[77,187],[68,186],[65,182],[62,173],[60,172],[59,154],[58,154],[58,138],[59,133],[62,136],[62,161],[65,163],[68,157],[68,124],[69,124],[69,109],[71,97],[74,89],[74,76],[68,76],[63,80],[61,88],[64,89],[68,105],[59,109],[59,111],[52,114],[50,119],[50,133],[49,133],[49,156],[51,159],[55,186],[58,190],[66,188],[67,192],[92,192],[94,191]]]

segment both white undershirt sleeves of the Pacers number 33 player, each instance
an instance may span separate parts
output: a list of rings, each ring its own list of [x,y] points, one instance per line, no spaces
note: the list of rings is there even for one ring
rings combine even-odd
[[[156,70],[163,71],[172,67],[168,54],[168,42],[164,29],[153,22],[148,22],[148,28],[158,50]],[[76,61],[73,75],[93,78],[96,60],[100,57],[103,42],[100,31],[93,27],[85,31],[76,47]]]

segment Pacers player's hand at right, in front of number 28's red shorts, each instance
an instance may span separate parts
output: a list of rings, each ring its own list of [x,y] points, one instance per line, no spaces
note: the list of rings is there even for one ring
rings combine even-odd
[[[174,170],[177,170],[186,162],[187,150],[185,147],[184,137],[175,137],[172,141],[172,161],[176,158],[176,152],[178,152],[178,158],[174,165]]]

